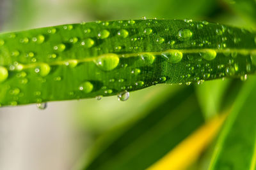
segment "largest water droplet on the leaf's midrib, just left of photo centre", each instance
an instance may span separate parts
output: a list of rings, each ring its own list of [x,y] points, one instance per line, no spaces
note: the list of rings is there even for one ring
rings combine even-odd
[[[97,66],[100,67],[100,69],[103,69],[104,71],[110,71],[118,66],[119,57],[115,53],[106,53],[97,57],[94,62],[97,64]]]

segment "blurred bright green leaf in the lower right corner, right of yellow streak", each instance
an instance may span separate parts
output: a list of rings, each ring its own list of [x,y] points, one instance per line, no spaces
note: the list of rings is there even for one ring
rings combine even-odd
[[[256,78],[246,82],[225,123],[212,155],[209,170],[255,169]]]

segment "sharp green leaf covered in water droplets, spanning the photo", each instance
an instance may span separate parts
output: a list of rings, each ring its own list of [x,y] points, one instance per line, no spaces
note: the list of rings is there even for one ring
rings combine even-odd
[[[125,96],[156,83],[244,79],[255,71],[255,36],[191,20],[89,22],[0,34],[0,104]]]

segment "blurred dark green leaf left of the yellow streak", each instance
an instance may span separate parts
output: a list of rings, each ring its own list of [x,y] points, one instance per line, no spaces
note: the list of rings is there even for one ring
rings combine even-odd
[[[109,132],[77,169],[146,169],[203,123],[193,87],[184,88],[129,125],[111,143],[108,138],[116,132]]]

